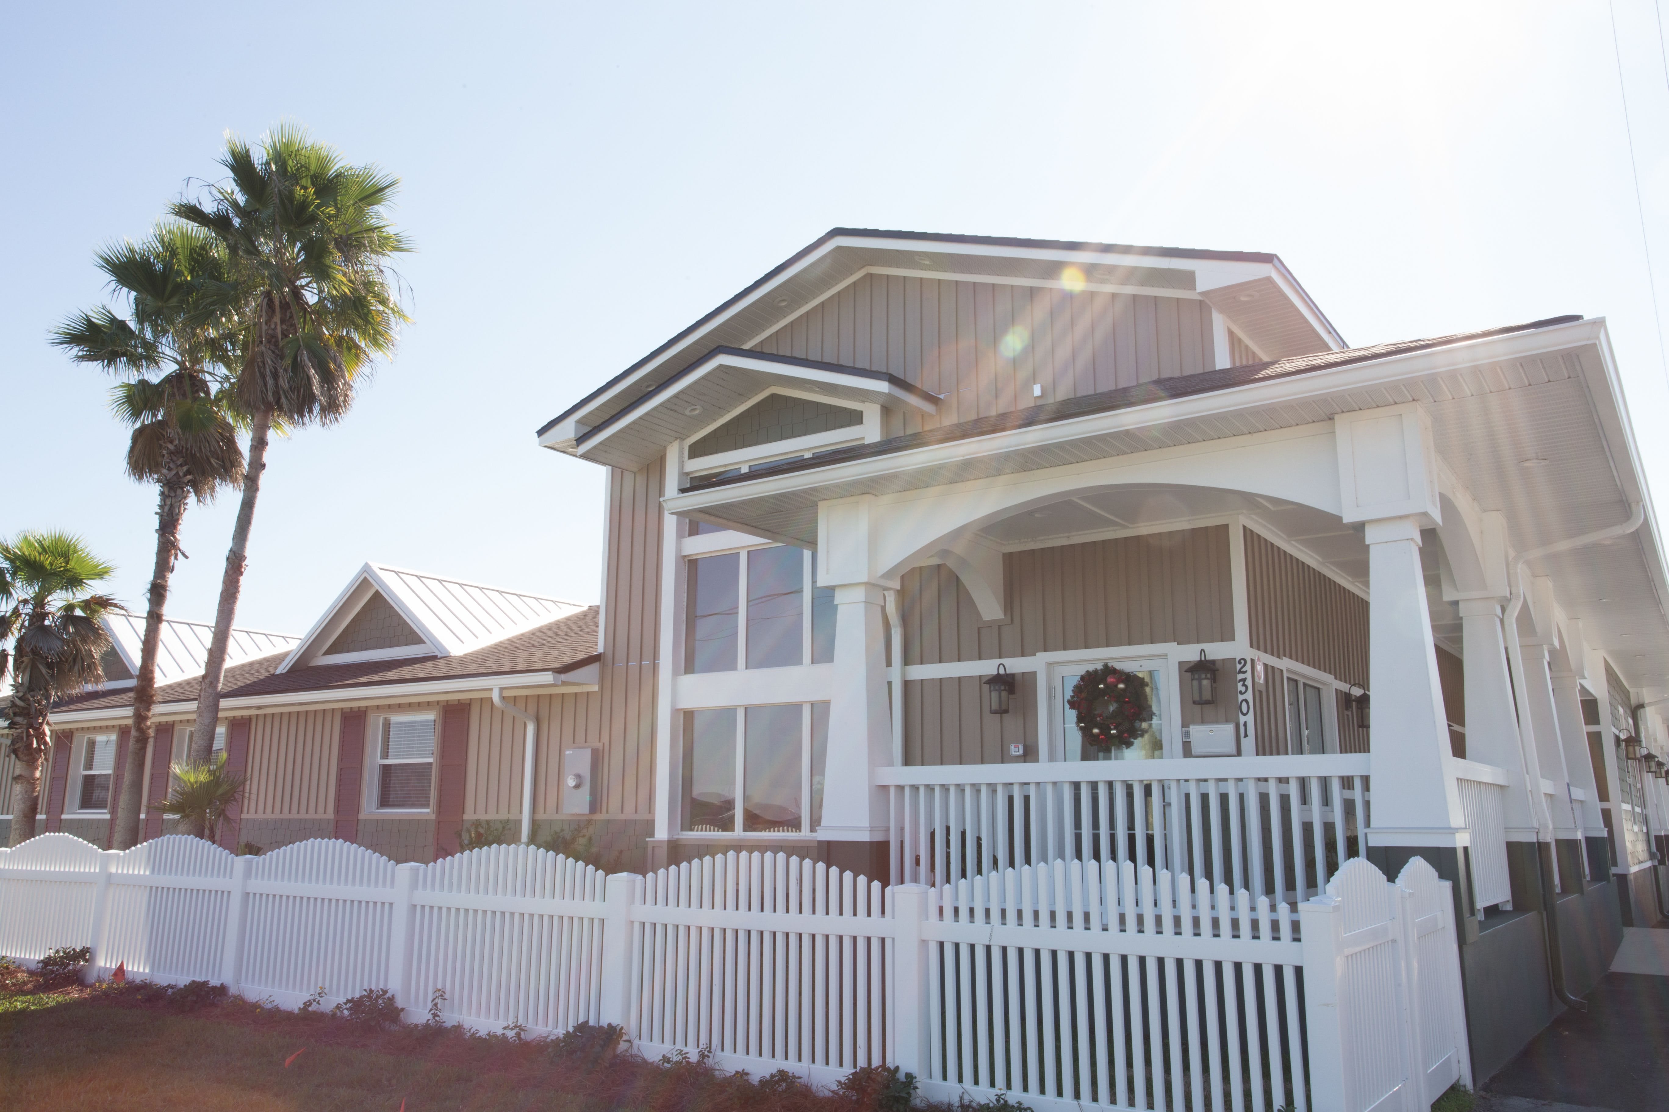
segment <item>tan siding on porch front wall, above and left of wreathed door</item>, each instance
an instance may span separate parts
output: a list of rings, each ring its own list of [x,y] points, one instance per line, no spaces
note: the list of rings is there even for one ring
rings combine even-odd
[[[1026,548],[1003,557],[1008,615],[985,622],[948,567],[913,569],[900,590],[905,664],[1030,657],[1117,645],[1233,640],[1228,527]],[[905,764],[1036,759],[1038,675],[1020,674],[1013,710],[985,712],[978,675],[905,682]]]

